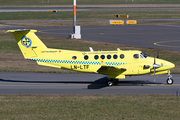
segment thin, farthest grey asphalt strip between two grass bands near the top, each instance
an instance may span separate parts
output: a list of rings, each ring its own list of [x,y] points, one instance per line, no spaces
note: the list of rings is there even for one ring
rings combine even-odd
[[[78,7],[77,11],[93,11],[93,10],[173,10],[180,9],[180,7]],[[73,11],[72,7],[6,7],[0,8],[0,12],[45,12],[48,10],[55,11]]]

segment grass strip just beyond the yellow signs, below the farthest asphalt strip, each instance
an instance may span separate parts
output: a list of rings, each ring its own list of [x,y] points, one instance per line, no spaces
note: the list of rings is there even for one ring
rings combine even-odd
[[[128,14],[129,19],[180,19],[180,10],[104,10],[78,11],[77,20],[120,19],[115,14]],[[72,20],[71,11],[48,12],[1,12],[0,20]],[[121,18],[122,19],[122,18]]]

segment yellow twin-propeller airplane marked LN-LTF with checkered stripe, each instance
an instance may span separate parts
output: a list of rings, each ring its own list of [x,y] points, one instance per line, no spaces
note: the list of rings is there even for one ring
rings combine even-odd
[[[173,84],[171,62],[148,57],[138,50],[117,51],[73,51],[47,48],[36,36],[37,30],[8,30],[13,33],[25,59],[36,61],[38,65],[107,75],[107,85],[118,83],[118,79],[135,75],[167,74],[167,84]]]

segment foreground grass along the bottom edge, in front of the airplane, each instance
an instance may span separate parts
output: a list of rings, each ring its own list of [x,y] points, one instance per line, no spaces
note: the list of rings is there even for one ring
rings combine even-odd
[[[1,120],[178,120],[175,95],[1,95]]]

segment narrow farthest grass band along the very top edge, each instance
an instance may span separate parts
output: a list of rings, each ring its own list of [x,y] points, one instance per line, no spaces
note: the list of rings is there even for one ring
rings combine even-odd
[[[44,2],[43,2],[44,1]],[[72,5],[72,0],[0,0],[0,5]],[[77,0],[78,5],[98,4],[180,4],[179,0]]]

